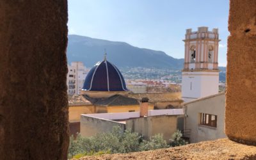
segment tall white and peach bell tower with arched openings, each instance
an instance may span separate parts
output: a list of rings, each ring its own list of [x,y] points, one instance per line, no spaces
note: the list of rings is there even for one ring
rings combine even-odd
[[[182,99],[184,102],[218,93],[218,29],[208,31],[200,27],[197,31],[186,30],[185,58],[182,70]]]

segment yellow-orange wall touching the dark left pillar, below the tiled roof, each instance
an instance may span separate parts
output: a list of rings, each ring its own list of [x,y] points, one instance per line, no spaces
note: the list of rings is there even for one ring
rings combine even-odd
[[[70,106],[68,107],[69,122],[79,122],[81,114],[95,113],[94,106]]]

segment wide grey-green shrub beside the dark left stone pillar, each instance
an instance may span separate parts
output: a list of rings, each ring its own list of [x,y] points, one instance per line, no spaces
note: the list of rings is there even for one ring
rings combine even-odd
[[[131,132],[129,129],[123,132],[117,126],[113,127],[111,132],[100,133],[89,138],[82,138],[81,135],[77,135],[76,140],[74,140],[74,136],[71,136],[68,158],[75,155],[85,155],[85,153],[88,156],[90,152],[105,153],[104,150],[108,150],[109,154],[136,152],[140,145],[139,139],[138,133]]]

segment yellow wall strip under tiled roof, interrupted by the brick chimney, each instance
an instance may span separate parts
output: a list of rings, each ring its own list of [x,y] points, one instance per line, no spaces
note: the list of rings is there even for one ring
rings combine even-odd
[[[148,105],[148,110],[154,109],[154,106]],[[108,113],[120,113],[120,112],[129,112],[129,111],[140,111],[140,105],[131,105],[131,106],[108,106]]]

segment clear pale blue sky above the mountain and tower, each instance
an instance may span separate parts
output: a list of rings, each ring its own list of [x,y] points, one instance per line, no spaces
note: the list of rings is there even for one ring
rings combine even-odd
[[[127,42],[184,58],[186,29],[218,28],[227,64],[228,0],[68,0],[68,34]]]

